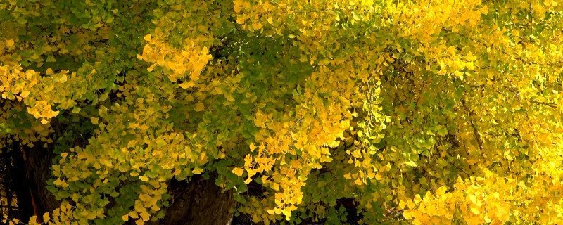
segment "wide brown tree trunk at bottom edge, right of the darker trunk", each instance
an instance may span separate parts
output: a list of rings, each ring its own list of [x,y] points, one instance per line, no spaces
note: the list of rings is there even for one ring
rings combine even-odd
[[[230,225],[233,214],[229,212],[235,201],[232,191],[215,185],[216,175],[210,179],[196,175],[191,181],[172,179],[169,185],[170,206],[163,209],[165,216],[154,224],[160,225]]]

